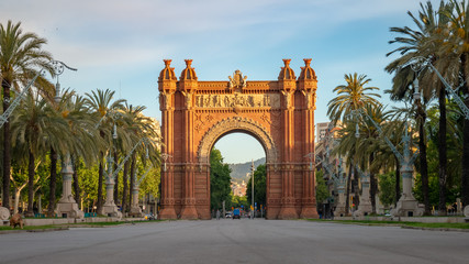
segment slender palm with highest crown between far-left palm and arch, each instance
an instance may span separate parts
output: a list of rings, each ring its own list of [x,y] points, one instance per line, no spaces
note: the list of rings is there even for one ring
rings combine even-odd
[[[99,134],[105,142],[105,147],[100,150],[99,155],[99,178],[98,178],[98,211],[102,210],[102,182],[103,182],[103,164],[104,152],[108,151],[109,146],[112,145],[112,127],[113,120],[111,116],[119,110],[123,109],[124,99],[112,101],[115,91],[100,90],[91,91],[86,94],[85,103],[93,112],[93,114],[100,120],[99,122]]]

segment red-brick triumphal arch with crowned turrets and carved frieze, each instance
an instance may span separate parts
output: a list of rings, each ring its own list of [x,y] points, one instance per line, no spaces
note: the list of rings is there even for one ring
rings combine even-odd
[[[297,78],[283,59],[278,80],[199,81],[192,61],[179,80],[171,61],[159,74],[163,165],[160,219],[210,219],[210,152],[233,132],[264,146],[267,218],[315,218],[314,109],[317,79],[311,59]],[[246,150],[248,151],[248,150]],[[309,155],[310,154],[310,155]]]

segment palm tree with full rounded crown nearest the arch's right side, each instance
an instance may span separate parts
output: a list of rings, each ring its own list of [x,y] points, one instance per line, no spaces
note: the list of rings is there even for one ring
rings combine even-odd
[[[340,85],[334,88],[334,92],[337,92],[337,97],[332,99],[327,106],[327,116],[332,122],[337,123],[338,120],[342,121],[343,125],[346,128],[354,128],[358,125],[357,116],[353,114],[357,110],[365,110],[366,106],[378,107],[381,103],[377,100],[381,96],[372,92],[373,90],[379,90],[378,87],[365,87],[371,79],[367,78],[366,75],[358,76],[357,73],[354,75],[345,75],[346,85]],[[349,125],[353,125],[351,128]],[[345,132],[346,130],[344,130]],[[340,141],[340,145],[348,145],[349,147],[343,152],[343,155],[347,155],[349,158],[354,157],[351,153],[356,153],[357,150],[356,140],[353,139],[355,133],[346,133],[348,135],[348,142],[344,139],[345,142]],[[353,148],[351,148],[353,147]],[[353,150],[355,150],[353,152]],[[355,157],[354,157],[355,158]],[[349,161],[348,164],[355,164],[357,161]],[[350,168],[354,166],[350,166]],[[350,174],[349,174],[350,175]],[[357,175],[356,173],[354,175]],[[348,213],[349,205],[349,191],[350,191],[350,177],[347,183],[347,196],[346,196],[346,213]]]

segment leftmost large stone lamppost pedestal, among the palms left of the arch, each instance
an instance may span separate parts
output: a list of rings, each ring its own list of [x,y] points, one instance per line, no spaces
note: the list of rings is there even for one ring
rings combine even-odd
[[[71,178],[74,170],[71,168],[69,155],[66,156],[60,173],[63,175],[63,191],[62,198],[57,202],[56,213],[58,217],[64,218],[85,218],[85,212],[78,208],[78,204],[71,195]]]

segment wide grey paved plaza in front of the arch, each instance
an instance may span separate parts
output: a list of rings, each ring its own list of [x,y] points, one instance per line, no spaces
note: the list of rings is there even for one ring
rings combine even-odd
[[[0,263],[468,263],[469,232],[278,220],[0,234]]]

